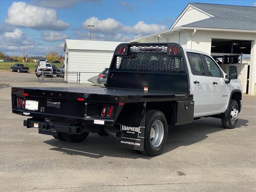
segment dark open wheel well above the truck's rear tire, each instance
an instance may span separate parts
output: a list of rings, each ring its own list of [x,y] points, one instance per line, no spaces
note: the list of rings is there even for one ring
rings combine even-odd
[[[171,125],[174,121],[174,113],[176,108],[176,101],[166,102],[147,102],[146,110],[159,110],[164,113],[168,125]]]

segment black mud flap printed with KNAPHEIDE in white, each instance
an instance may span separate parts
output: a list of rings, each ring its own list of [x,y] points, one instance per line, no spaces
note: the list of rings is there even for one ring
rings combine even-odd
[[[116,129],[121,130],[124,136],[117,140],[123,148],[144,150],[145,135],[145,103],[126,104],[122,109]]]

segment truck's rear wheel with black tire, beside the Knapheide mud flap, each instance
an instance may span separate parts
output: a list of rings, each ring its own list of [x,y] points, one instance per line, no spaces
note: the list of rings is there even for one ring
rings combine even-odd
[[[166,144],[168,125],[163,112],[148,110],[145,118],[145,140],[142,154],[156,156],[160,154]]]

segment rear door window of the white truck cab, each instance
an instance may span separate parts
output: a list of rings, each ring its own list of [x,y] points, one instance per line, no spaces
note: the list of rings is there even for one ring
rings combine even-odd
[[[204,65],[200,54],[187,53],[190,69],[193,75],[205,75]]]

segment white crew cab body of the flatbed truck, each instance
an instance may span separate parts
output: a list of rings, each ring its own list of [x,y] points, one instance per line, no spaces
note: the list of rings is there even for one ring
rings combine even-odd
[[[242,85],[236,67],[230,67],[235,73],[229,75],[204,52],[185,49],[184,53],[189,64],[190,93],[194,95],[194,117],[222,114],[228,109],[230,100],[236,100],[240,112]]]

